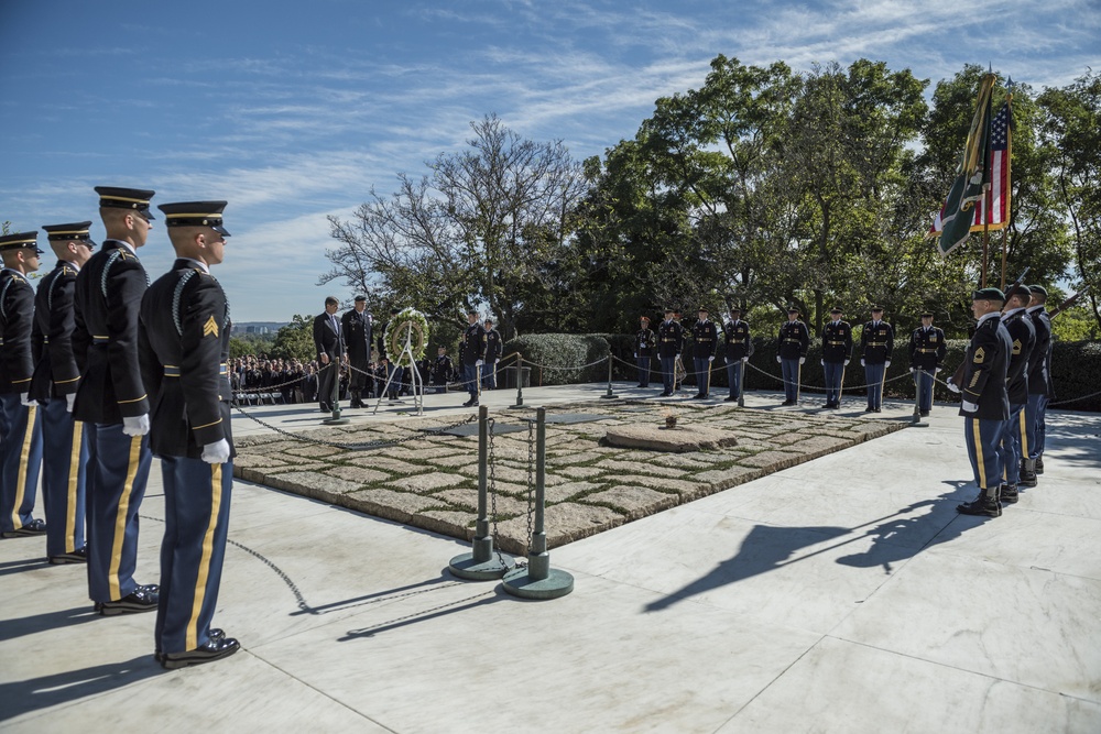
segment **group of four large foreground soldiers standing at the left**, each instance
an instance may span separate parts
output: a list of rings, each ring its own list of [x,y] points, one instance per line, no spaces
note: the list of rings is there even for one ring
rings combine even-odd
[[[96,187],[90,221],[43,227],[56,267],[37,291],[37,233],[0,238],[0,532],[46,536],[52,565],[86,563],[94,610],[156,610],[165,668],[239,643],[211,627],[229,522],[229,304],[225,201],[159,207],[176,261],[152,285],[138,258],[153,191]],[[153,456],[164,483],[160,584],[134,578],[138,513]],[[39,467],[46,521],[33,516]]]

